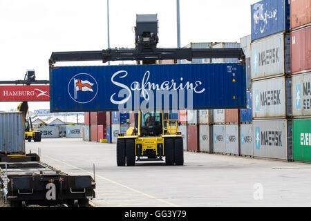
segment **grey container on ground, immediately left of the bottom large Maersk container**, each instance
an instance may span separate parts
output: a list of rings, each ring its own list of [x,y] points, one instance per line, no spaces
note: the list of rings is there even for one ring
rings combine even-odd
[[[239,127],[240,155],[254,155],[253,124],[241,124]]]

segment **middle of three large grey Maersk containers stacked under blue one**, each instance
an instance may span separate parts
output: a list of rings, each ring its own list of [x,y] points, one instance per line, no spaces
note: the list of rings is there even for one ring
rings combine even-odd
[[[292,79],[290,77],[254,81],[252,93],[253,119],[292,116]]]

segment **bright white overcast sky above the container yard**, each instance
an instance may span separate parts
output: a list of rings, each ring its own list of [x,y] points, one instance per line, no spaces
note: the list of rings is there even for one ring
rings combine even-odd
[[[180,0],[181,46],[239,42],[250,35],[250,5],[257,1]],[[176,47],[176,0],[110,0],[111,48],[133,48],[136,14],[156,13],[158,47]],[[106,17],[106,0],[0,0],[0,80],[23,79],[26,69],[35,69],[36,79],[48,79],[53,51],[106,49]],[[81,64],[102,65],[100,61]],[[0,111],[18,104],[1,102]],[[28,106],[30,111],[50,107],[49,102],[28,102]]]

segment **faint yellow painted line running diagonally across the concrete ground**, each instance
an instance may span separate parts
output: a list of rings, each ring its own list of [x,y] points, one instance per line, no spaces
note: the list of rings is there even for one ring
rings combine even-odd
[[[51,160],[54,160],[54,161],[56,161],[56,162],[60,162],[60,163],[62,163],[62,164],[66,164],[67,166],[71,166],[71,167],[73,167],[73,168],[75,168],[75,169],[79,169],[80,171],[84,171],[84,172],[86,172],[86,173],[89,173],[89,174],[93,175],[93,173],[91,173],[91,172],[89,172],[89,171],[86,171],[86,170],[84,170],[84,169],[81,169],[81,168],[79,168],[79,167],[77,167],[77,166],[73,166],[73,165],[68,164],[68,163],[66,163],[66,162],[63,162],[63,161],[61,161],[61,160],[56,160],[56,159],[54,159],[53,157],[50,157],[50,156],[48,156],[48,155],[44,155],[44,157],[48,157],[48,158],[50,158]],[[126,186],[126,185],[124,185],[124,184],[120,184],[120,183],[118,183],[118,182],[115,182],[115,181],[113,181],[113,180],[110,180],[109,178],[103,177],[103,176],[101,176],[101,175],[95,175],[95,177],[100,177],[100,178],[102,178],[103,180],[109,181],[109,182],[111,182],[111,183],[113,183],[113,184],[116,184],[116,185],[118,185],[118,186],[122,186],[122,187],[124,187],[124,188],[126,188],[126,189],[129,189],[129,190],[135,192],[135,193],[140,193],[140,194],[142,194],[142,195],[144,195],[144,196],[147,196],[148,198],[151,198],[151,199],[153,199],[153,200],[158,200],[158,201],[160,201],[160,202],[163,202],[164,204],[168,204],[168,205],[174,206],[174,207],[180,207],[180,206],[178,206],[178,205],[176,205],[176,204],[173,204],[173,203],[168,202],[168,201],[166,201],[166,200],[162,200],[162,199],[156,198],[156,197],[153,196],[153,195],[149,195],[149,194],[147,194],[147,193],[143,193],[142,191],[138,191],[138,190],[133,189],[133,188],[131,188],[131,187],[129,187],[129,186]]]

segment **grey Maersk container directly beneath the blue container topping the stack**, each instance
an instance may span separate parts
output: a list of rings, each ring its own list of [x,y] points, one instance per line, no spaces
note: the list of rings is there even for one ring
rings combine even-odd
[[[251,79],[290,73],[290,34],[272,35],[252,43]]]

